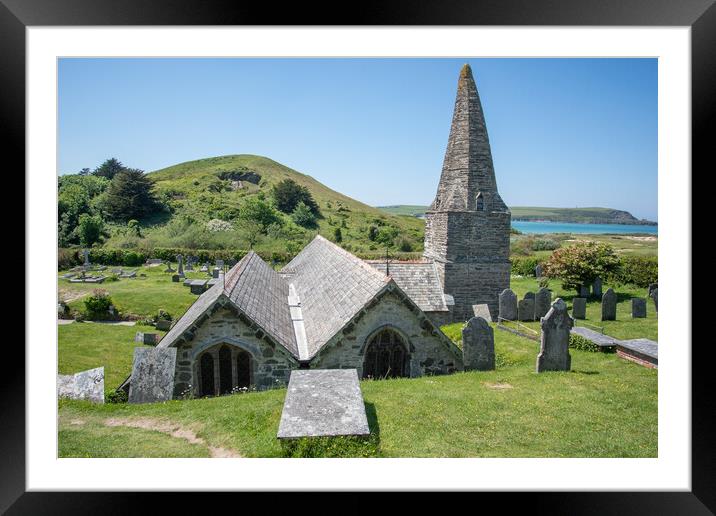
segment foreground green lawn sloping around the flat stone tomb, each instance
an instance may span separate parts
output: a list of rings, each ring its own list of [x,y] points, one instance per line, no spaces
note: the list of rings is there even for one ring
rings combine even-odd
[[[66,335],[61,334],[63,338]],[[361,382],[372,437],[345,443],[345,448],[334,442],[302,453],[360,457],[657,456],[655,370],[615,354],[571,350],[572,371],[537,374],[537,343],[499,330],[495,341],[495,371]],[[126,353],[124,363],[131,360],[132,347],[121,348]],[[67,349],[61,343],[60,355]],[[106,357],[99,360],[105,366],[119,360]],[[284,396],[285,389],[277,389],[146,405],[63,400],[59,409],[60,456],[208,453],[206,448],[187,447],[184,441],[159,432],[106,427],[109,418],[170,421],[194,429],[208,445],[245,457],[284,456],[287,450],[276,439]],[[151,441],[147,441],[148,434],[153,434]]]

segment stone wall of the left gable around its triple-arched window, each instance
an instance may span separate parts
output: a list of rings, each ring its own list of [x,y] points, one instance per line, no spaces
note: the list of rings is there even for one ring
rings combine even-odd
[[[200,357],[206,350],[218,353],[222,344],[232,350],[232,364],[239,349],[251,355],[251,383],[258,390],[288,384],[291,369],[298,368],[298,361],[283,346],[274,343],[233,308],[221,307],[197,328],[191,341],[177,344],[175,397],[187,392],[190,385],[195,395],[200,394]]]

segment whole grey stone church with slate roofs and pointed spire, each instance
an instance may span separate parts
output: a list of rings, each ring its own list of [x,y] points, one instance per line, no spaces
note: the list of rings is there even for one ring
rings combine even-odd
[[[266,389],[297,368],[355,368],[362,378],[462,370],[440,325],[469,319],[474,304],[496,315],[509,287],[509,236],[465,65],[423,260],[364,261],[321,236],[280,271],[249,252],[159,342],[177,349],[174,396]]]

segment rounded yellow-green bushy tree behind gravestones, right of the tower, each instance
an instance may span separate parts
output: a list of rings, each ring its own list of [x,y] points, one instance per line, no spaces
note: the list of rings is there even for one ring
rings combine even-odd
[[[606,278],[618,268],[619,257],[612,246],[580,242],[554,251],[545,263],[543,274],[560,278],[563,288],[579,292],[582,285],[590,285],[597,278]]]

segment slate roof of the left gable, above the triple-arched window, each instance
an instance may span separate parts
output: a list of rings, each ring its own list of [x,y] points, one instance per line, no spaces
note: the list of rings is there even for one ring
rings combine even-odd
[[[244,256],[194,302],[157,347],[171,346],[221,296],[230,301],[267,334],[298,356],[288,306],[288,283],[253,251]]]

